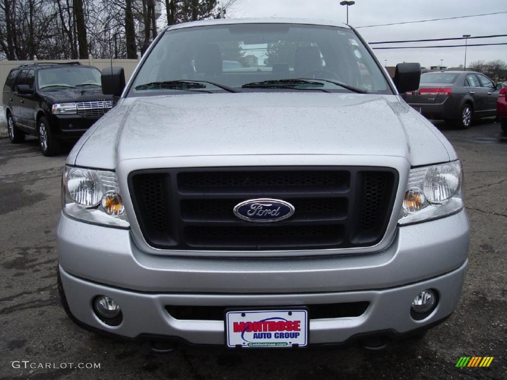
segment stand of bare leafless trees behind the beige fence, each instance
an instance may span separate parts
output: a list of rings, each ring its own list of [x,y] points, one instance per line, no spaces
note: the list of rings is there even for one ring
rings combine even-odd
[[[167,24],[225,17],[237,0],[0,0],[0,58],[136,58]]]

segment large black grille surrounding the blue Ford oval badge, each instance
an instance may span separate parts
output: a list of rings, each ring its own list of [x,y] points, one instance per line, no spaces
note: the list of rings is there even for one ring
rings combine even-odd
[[[164,249],[323,249],[378,243],[397,184],[390,168],[277,167],[132,172],[129,186],[146,241]],[[238,203],[275,198],[295,213],[244,221]]]

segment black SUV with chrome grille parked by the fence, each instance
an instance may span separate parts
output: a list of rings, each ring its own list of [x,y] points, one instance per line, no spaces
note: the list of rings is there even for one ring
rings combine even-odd
[[[102,94],[99,69],[79,62],[12,69],[2,102],[11,142],[38,136],[45,156],[58,154],[63,139],[77,140],[113,107],[113,98]]]

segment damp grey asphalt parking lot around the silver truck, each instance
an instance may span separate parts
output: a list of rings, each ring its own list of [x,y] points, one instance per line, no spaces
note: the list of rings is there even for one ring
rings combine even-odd
[[[43,157],[33,138],[20,145],[0,139],[0,379],[507,378],[507,136],[493,121],[466,131],[437,126],[457,149],[465,173],[472,241],[463,295],[451,318],[423,340],[380,352],[357,346],[243,352],[184,347],[159,355],[148,344],[80,329],[60,307],[55,276],[65,155]],[[488,368],[456,368],[461,356],[494,360]],[[51,367],[14,368],[13,361]]]

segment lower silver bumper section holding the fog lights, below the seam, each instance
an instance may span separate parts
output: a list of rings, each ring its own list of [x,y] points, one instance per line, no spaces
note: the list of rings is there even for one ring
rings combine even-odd
[[[227,305],[243,310],[244,305],[255,308],[369,301],[368,309],[359,317],[312,319],[310,315],[309,343],[328,344],[343,343],[354,336],[374,331],[404,334],[445,319],[456,309],[467,264],[466,261],[460,268],[443,276],[391,289],[269,295],[133,292],[80,279],[61,267],[59,270],[68,307],[79,322],[128,338],[152,335],[177,337],[192,344],[225,344],[223,321],[175,319],[165,310],[166,305]],[[414,296],[424,289],[436,289],[439,302],[426,319],[416,321],[410,315],[410,305]],[[114,298],[121,306],[123,322],[119,326],[102,323],[93,312],[92,301],[100,294]]]

